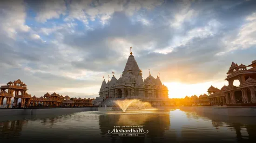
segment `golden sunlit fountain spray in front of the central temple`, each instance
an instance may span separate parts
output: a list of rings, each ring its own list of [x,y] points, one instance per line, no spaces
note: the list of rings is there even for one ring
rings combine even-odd
[[[138,99],[115,100],[114,102],[122,109],[123,112],[125,112],[128,108],[142,110],[151,107],[150,103],[143,102]]]

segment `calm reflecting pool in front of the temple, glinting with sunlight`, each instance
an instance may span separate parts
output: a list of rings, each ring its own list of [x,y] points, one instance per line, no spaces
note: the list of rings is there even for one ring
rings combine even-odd
[[[114,126],[143,126],[143,137],[113,137]],[[0,143],[234,143],[256,141],[255,117],[185,109],[78,112],[53,117],[0,118]]]

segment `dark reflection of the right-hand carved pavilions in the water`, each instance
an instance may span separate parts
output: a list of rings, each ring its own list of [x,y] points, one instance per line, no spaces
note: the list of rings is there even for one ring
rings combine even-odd
[[[211,121],[214,131],[219,133],[218,137],[223,141],[256,141],[256,117],[215,115],[199,112],[194,108],[180,108],[180,110],[192,120],[201,119],[201,127],[207,120]]]

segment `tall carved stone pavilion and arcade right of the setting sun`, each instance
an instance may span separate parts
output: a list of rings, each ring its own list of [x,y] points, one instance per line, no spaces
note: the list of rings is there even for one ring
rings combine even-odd
[[[252,67],[247,69],[248,67]],[[221,89],[209,87],[209,100],[212,105],[235,104],[235,103],[256,103],[256,60],[245,66],[232,62],[227,72],[229,85]],[[233,82],[238,80],[240,85],[236,87]]]

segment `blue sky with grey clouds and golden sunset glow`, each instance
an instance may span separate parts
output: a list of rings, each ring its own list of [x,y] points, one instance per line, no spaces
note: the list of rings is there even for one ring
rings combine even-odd
[[[169,98],[207,93],[256,60],[255,0],[1,0],[0,85],[95,98],[130,49]],[[239,85],[235,81],[235,85]]]

